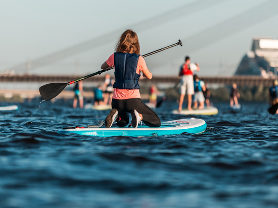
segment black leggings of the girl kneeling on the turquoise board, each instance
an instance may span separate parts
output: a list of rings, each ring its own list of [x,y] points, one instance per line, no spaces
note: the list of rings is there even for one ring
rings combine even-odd
[[[132,110],[142,114],[143,122],[149,127],[160,127],[161,121],[156,113],[150,109],[140,98],[112,99],[112,108],[117,109],[120,120],[117,126],[125,127],[129,123],[129,115]]]

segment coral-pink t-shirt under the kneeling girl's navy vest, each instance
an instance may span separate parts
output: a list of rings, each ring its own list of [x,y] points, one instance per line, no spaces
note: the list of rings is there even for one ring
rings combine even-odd
[[[114,66],[114,54],[112,54],[108,58],[106,63],[110,67]],[[147,65],[146,65],[144,58],[142,56],[140,56],[138,59],[136,73],[140,74],[141,71],[143,71],[144,69],[147,69]],[[115,88],[114,93],[113,93],[113,98],[114,99],[141,98],[141,95],[140,95],[139,89],[117,89],[117,88]]]

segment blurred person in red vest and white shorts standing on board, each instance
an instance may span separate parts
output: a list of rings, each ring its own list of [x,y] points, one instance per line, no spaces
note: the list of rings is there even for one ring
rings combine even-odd
[[[199,64],[190,63],[190,58],[186,57],[186,63],[180,67],[179,76],[180,79],[180,97],[179,97],[179,106],[178,111],[182,110],[182,103],[184,96],[188,95],[188,110],[192,111],[192,95],[194,94],[194,81],[193,81],[193,72],[200,71]]]

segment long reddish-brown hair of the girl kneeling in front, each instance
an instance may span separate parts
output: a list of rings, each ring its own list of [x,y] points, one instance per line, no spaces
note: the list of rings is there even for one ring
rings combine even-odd
[[[115,49],[116,53],[134,53],[140,54],[140,44],[136,32],[133,30],[126,30],[121,35]]]

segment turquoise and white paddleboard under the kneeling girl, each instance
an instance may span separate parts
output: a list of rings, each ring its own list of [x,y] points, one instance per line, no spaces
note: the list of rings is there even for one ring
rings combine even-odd
[[[58,131],[60,134],[80,134],[86,136],[99,136],[99,137],[110,137],[110,136],[160,136],[160,135],[173,135],[187,133],[202,133],[206,130],[207,124],[201,119],[180,119],[174,121],[162,122],[159,128],[150,128],[144,123],[138,124],[137,128],[119,128],[112,126],[111,128],[85,128],[85,127],[68,127]]]

